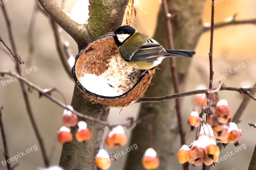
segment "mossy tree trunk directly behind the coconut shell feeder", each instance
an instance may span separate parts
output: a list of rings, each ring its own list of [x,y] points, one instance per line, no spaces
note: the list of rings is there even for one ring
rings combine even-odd
[[[103,5],[102,0],[90,0],[89,2],[90,18],[87,24],[87,35],[91,40],[103,36],[109,31],[114,31],[121,26],[124,16],[124,6],[127,5],[127,0],[111,1],[111,3],[108,3],[107,5]],[[83,29],[81,29],[80,35],[84,35]],[[76,38],[76,36],[78,37]],[[84,39],[84,42],[81,42],[79,35],[76,36],[73,38],[75,40],[79,39],[79,41],[76,42],[78,50],[80,51],[88,43],[88,38]],[[85,115],[103,120],[108,119],[109,109],[106,110],[107,106],[99,103],[92,104],[84,98],[83,93],[81,93],[80,89],[76,86],[74,88],[71,106]],[[83,120],[82,118],[79,119]],[[60,166],[65,170],[96,169],[94,158],[100,149],[105,127],[99,123],[91,121],[86,121],[86,123],[87,127],[92,132],[92,138],[85,143],[80,143],[76,141],[76,139],[73,139],[72,142],[63,145],[62,147]],[[71,128],[73,136],[76,133],[76,130],[77,127]]]

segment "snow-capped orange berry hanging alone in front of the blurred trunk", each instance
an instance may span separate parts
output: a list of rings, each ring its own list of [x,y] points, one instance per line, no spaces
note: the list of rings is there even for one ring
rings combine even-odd
[[[145,169],[156,169],[159,166],[159,159],[153,148],[148,148],[142,157],[142,165]]]

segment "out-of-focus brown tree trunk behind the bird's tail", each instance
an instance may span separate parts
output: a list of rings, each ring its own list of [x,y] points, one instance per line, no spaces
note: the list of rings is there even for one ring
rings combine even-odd
[[[168,1],[170,13],[176,13],[176,20],[172,22],[173,39],[175,49],[193,50],[200,37],[202,25],[202,14],[204,8],[203,0],[187,1],[172,0]],[[167,47],[166,25],[162,10],[159,13],[155,39],[165,48]],[[180,89],[184,90],[184,83],[188,73],[190,59],[177,58],[178,76]],[[173,83],[170,69],[170,60],[164,59],[159,65],[162,70],[156,70],[152,85],[148,87],[147,97],[166,96],[173,94]],[[139,118],[147,114],[155,113],[154,120],[150,123],[154,133],[154,148],[160,159],[158,169],[169,169],[168,160],[172,153],[172,145],[178,135],[177,118],[175,111],[175,101],[164,103],[142,103]],[[141,165],[141,158],[149,144],[148,129],[142,125],[136,126],[132,131],[132,144],[138,145],[138,150],[129,152],[125,170],[144,169]]]

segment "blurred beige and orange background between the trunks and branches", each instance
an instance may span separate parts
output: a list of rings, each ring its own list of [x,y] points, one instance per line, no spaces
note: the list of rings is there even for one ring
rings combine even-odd
[[[60,0],[55,0],[55,2],[60,4]],[[74,0],[66,0],[65,11],[70,12],[75,3],[76,1]],[[35,5],[34,1],[12,0],[5,2],[4,5],[12,22],[14,40],[18,54],[21,55],[22,60],[25,62],[25,64],[21,66],[22,71],[25,71],[26,69],[29,69],[35,65],[37,68],[37,71],[33,70],[27,74],[25,76],[26,79],[42,88],[56,87],[65,95],[68,104],[70,104],[75,83],[68,77],[63,69],[63,66],[61,65],[49,19],[46,18],[42,13],[37,13],[33,33],[35,53],[29,58],[28,27]],[[237,14],[237,20],[256,18],[255,6],[256,1],[254,0],[223,1],[220,4],[215,5],[215,23],[223,22],[225,18],[233,16],[234,14]],[[136,1],[135,7],[137,11],[137,18],[134,18],[133,27],[135,27],[139,32],[153,37],[157,23],[157,14],[158,11],[161,10],[160,2],[157,0],[138,0]],[[210,9],[211,0],[206,0],[205,8],[202,9],[204,10],[204,23],[210,22]],[[0,15],[0,34],[5,42],[10,45],[2,11]],[[65,32],[63,32],[63,35],[64,38],[69,41],[71,51],[75,56],[76,53],[78,53],[75,41]],[[192,59],[185,91],[195,90],[196,86],[202,83],[208,86],[209,44],[210,32],[205,32],[202,34],[196,49],[194,49],[196,51],[196,55]],[[0,46],[4,47],[3,44],[0,44]],[[219,76],[226,73],[226,71],[230,69],[234,71],[236,66],[244,63],[245,67],[241,67],[234,74],[228,76],[227,79],[224,80],[224,83],[227,86],[234,87],[240,87],[242,85],[252,86],[256,82],[255,46],[255,25],[231,25],[216,29],[214,31],[213,42],[214,79],[219,78]],[[16,61],[12,59],[11,55],[7,55],[0,50],[0,70],[5,69],[15,71],[14,62]],[[213,87],[216,86],[217,84],[213,85]],[[242,101],[242,96],[239,93],[232,91],[221,91],[219,94],[220,99],[228,100],[231,110],[233,113],[235,113]],[[17,152],[26,151],[26,149],[34,145],[38,147],[37,151],[30,152],[29,154],[19,158],[17,162],[12,162],[12,165],[19,163],[19,165],[15,168],[17,170],[36,169],[37,167],[43,166],[41,151],[36,140],[35,133],[31,128],[31,123],[28,119],[28,114],[20,90],[20,84],[15,81],[7,84],[4,87],[1,84],[0,96],[0,106],[4,107],[2,114],[9,147],[9,156],[12,157],[16,155]],[[57,93],[53,93],[53,96],[62,101],[62,98]],[[39,99],[38,93],[35,91],[29,93],[29,99],[39,131],[44,138],[43,140],[47,149],[47,154],[50,153],[52,147],[55,148],[53,155],[51,155],[51,165],[58,165],[62,145],[57,143],[56,133],[62,126],[61,117],[63,109],[44,97]],[[193,104],[193,96],[182,98],[182,116],[187,132],[189,131],[189,126],[187,125],[186,120],[190,114]],[[220,162],[212,169],[247,169],[256,143],[256,131],[252,127],[248,126],[248,123],[256,122],[255,108],[255,101],[251,101],[241,118],[241,123],[238,124],[238,127],[242,128],[243,135],[240,143],[245,144],[246,149],[242,149],[239,151],[239,153],[228,158],[227,161]],[[125,117],[136,117],[139,109],[140,104],[133,104],[132,106],[124,108],[119,114],[119,108],[111,108],[109,121],[112,124],[117,124]],[[127,130],[126,132],[129,136],[131,130]],[[190,138],[188,139],[188,144],[193,141],[195,136],[194,133],[191,133]],[[126,149],[126,147],[127,146],[116,150],[109,150],[109,152],[117,153],[120,150]],[[172,154],[172,159],[170,159],[172,165],[170,169],[181,169],[181,165],[178,163],[176,158],[176,153],[180,149],[180,141],[178,139],[173,148],[175,149]],[[225,149],[222,149],[220,152],[220,157],[226,154],[226,152],[230,151],[235,151],[234,145],[228,145]],[[4,149],[1,139],[0,153],[3,152]],[[0,154],[0,161],[2,160],[5,159],[4,156]],[[110,169],[121,170],[124,166],[124,161],[125,155],[118,158],[117,161],[112,161],[112,166]],[[192,168],[191,165],[190,168]],[[6,167],[0,164],[0,169],[6,169]],[[194,167],[193,169],[201,169],[201,166]]]

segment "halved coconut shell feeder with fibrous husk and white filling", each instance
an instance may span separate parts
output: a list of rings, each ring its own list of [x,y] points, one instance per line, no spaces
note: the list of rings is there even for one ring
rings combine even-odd
[[[155,69],[148,70],[153,75]],[[119,57],[114,38],[103,36],[76,55],[72,74],[85,98],[109,107],[124,107],[147,91],[150,75],[139,78],[141,70],[128,66]]]

